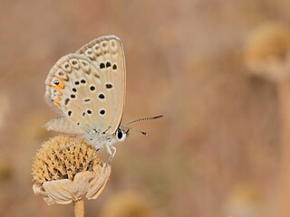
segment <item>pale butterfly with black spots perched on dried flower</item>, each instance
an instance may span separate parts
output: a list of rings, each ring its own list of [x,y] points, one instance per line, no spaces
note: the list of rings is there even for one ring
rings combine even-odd
[[[126,87],[125,56],[115,35],[96,38],[57,61],[45,80],[44,100],[61,114],[44,125],[48,130],[80,135],[110,161],[116,142],[129,134],[133,122],[121,127]],[[160,118],[153,117],[153,118]],[[144,132],[140,131],[142,134]]]

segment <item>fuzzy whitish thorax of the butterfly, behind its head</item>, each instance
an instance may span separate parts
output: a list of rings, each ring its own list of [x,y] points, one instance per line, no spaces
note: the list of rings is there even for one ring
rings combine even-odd
[[[89,143],[89,145],[95,146],[96,148],[113,146],[117,142],[115,135],[102,135],[100,132],[94,130],[86,133],[85,135],[83,135],[83,137]]]

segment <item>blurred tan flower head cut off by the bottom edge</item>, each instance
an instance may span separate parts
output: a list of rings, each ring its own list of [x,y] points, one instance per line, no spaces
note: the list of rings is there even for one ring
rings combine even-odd
[[[153,211],[140,193],[123,192],[111,197],[102,211],[102,217],[152,217]]]

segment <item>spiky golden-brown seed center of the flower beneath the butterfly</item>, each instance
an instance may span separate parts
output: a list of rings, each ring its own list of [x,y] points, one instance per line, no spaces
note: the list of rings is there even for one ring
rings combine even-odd
[[[58,136],[43,143],[34,157],[32,175],[36,184],[69,179],[102,165],[96,149],[79,137]]]

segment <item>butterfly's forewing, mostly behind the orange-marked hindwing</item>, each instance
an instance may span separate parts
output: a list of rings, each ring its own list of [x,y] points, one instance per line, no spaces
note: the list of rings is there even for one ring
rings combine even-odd
[[[113,35],[103,36],[85,44],[76,53],[89,58],[100,72],[102,85],[98,97],[102,97],[102,105],[97,112],[104,119],[102,133],[112,135],[120,125],[125,99],[125,60],[121,40]]]

